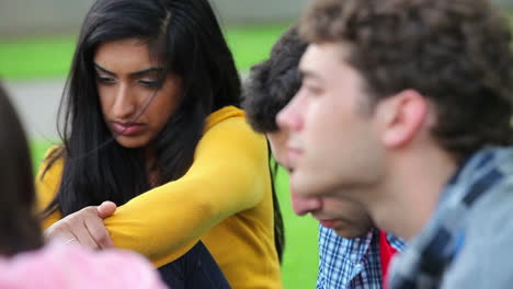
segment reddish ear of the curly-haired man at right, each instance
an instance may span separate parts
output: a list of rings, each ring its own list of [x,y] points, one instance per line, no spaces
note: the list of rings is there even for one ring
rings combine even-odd
[[[377,113],[381,123],[381,140],[388,148],[410,143],[425,125],[428,101],[414,90],[404,90],[383,101]]]

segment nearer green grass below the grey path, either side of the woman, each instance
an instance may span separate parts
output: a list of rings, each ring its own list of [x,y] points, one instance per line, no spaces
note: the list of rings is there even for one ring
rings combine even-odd
[[[48,141],[32,141],[32,159],[37,167],[46,150],[52,146]],[[285,254],[282,266],[284,288],[315,288],[318,269],[318,222],[310,217],[297,217],[290,207],[288,194],[288,176],[280,169],[276,177],[276,192],[285,222]]]

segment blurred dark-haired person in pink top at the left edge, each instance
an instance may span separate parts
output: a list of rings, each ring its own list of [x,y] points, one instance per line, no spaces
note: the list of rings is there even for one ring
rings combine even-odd
[[[1,85],[0,160],[8,167],[0,170],[0,288],[166,288],[150,264],[130,252],[43,247],[26,138]],[[104,274],[114,266],[115,275]]]

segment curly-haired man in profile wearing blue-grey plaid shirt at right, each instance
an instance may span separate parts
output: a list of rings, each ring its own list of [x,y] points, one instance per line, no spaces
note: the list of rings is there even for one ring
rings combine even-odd
[[[409,241],[392,289],[511,288],[513,54],[487,0],[319,0],[278,114],[290,187]]]

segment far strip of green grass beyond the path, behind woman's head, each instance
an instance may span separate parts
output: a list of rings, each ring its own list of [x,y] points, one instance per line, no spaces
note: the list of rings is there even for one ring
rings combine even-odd
[[[269,56],[288,24],[228,27],[225,35],[237,68],[248,70]],[[0,77],[34,79],[67,76],[77,36],[0,39]]]

